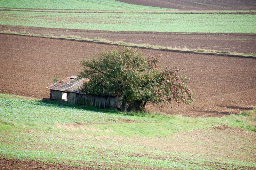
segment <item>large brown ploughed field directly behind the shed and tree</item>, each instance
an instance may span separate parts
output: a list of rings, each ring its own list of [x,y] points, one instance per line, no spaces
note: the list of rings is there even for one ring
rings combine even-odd
[[[56,76],[60,80],[82,71],[79,60],[97,56],[115,45],[51,38],[0,34],[0,93],[50,97],[46,89]],[[216,117],[239,113],[256,105],[256,59],[141,49],[145,55],[162,54],[164,66],[179,67],[191,78],[195,94],[192,105],[176,103],[150,111],[189,117]]]

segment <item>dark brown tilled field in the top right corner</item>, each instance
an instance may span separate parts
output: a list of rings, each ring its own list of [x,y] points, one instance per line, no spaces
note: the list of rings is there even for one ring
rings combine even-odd
[[[118,0],[121,2],[179,10],[255,10],[253,0]]]

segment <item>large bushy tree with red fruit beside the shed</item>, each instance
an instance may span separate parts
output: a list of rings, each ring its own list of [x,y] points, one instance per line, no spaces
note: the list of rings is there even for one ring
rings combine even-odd
[[[158,67],[161,58],[145,57],[133,48],[103,50],[99,58],[82,60],[84,71],[78,77],[90,79],[82,90],[87,95],[123,95],[123,111],[144,110],[147,102],[190,104],[189,78],[178,75],[180,69]]]

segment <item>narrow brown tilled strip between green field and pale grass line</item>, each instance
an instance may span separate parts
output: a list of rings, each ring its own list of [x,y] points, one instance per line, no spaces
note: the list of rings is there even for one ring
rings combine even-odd
[[[110,41],[123,41],[135,44],[150,44],[159,46],[171,46],[177,48],[187,47],[189,49],[211,49],[220,51],[242,52],[244,54],[256,53],[256,34],[234,34],[234,33],[173,33],[173,32],[129,32],[129,31],[96,31],[81,29],[57,29],[0,25],[0,30],[9,30],[40,35],[52,34],[77,35],[90,39],[107,39]]]

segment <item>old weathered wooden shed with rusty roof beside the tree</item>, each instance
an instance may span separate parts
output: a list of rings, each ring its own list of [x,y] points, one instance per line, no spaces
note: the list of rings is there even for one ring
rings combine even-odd
[[[122,96],[90,96],[81,91],[84,82],[89,79],[76,79],[76,76],[69,76],[62,81],[56,82],[47,87],[51,90],[51,99],[64,100],[68,104],[81,104],[99,109],[111,108],[121,110]]]

